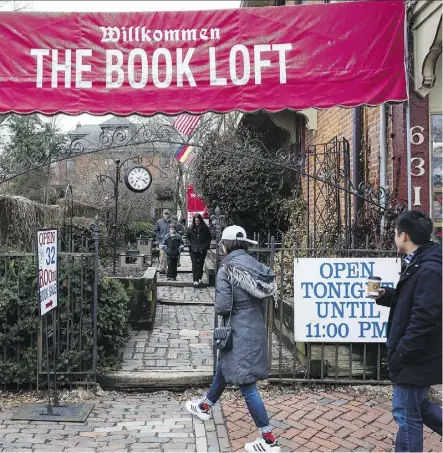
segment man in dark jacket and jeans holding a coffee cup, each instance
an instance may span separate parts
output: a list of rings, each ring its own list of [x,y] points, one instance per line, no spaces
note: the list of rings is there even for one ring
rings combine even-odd
[[[442,254],[432,229],[418,211],[397,218],[395,243],[406,257],[397,287],[381,288],[376,300],[391,309],[386,345],[401,452],[423,451],[423,424],[442,434],[442,409],[427,399],[430,386],[442,383]]]

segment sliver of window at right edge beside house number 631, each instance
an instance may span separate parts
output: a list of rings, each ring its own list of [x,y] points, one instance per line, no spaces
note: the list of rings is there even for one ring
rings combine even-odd
[[[443,115],[431,115],[432,218],[436,239],[442,241],[443,222]]]

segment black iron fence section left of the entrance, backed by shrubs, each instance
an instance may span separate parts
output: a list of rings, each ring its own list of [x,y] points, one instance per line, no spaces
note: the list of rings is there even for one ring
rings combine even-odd
[[[59,253],[55,322],[39,316],[35,253],[0,254],[0,384],[39,388],[56,355],[59,382],[95,382],[97,364],[97,262],[95,253]],[[48,335],[56,341],[43,353]],[[52,341],[51,340],[51,341]],[[49,358],[49,362],[48,362]],[[48,367],[48,363],[50,364]]]

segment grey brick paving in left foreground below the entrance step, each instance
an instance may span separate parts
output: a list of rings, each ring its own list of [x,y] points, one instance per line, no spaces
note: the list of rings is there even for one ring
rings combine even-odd
[[[230,451],[219,407],[203,423],[168,392],[102,397],[85,423],[13,421],[12,414],[0,411],[2,453]]]

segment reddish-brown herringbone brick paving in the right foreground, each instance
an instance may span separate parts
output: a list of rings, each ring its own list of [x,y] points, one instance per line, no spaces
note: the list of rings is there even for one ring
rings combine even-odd
[[[307,390],[265,397],[264,402],[283,452],[393,451],[397,425],[392,419],[390,401]],[[232,451],[244,451],[244,444],[258,437],[246,405],[239,398],[222,402],[222,409]],[[424,437],[425,452],[442,451],[438,434],[425,427]]]

